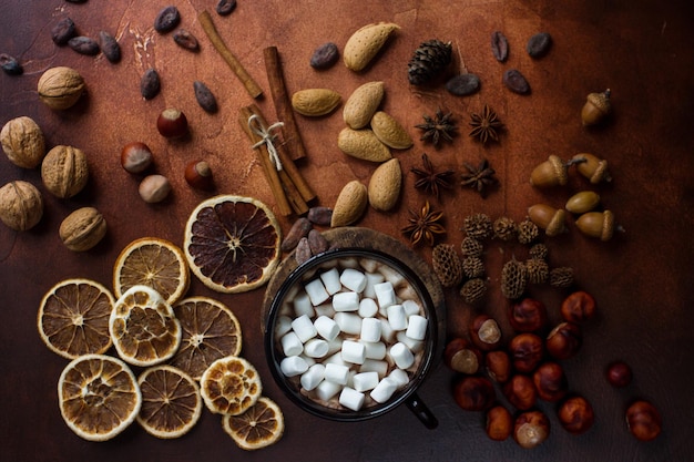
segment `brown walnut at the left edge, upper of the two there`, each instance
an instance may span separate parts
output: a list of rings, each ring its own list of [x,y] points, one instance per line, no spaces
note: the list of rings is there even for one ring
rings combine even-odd
[[[0,132],[2,151],[18,167],[34,168],[45,156],[43,132],[33,119],[22,115],[4,124]]]

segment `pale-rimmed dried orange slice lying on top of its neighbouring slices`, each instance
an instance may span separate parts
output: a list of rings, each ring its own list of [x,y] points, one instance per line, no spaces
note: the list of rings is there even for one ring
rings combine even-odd
[[[143,367],[173,357],[182,335],[171,305],[147,286],[131,287],[115,301],[109,332],[119,356]]]

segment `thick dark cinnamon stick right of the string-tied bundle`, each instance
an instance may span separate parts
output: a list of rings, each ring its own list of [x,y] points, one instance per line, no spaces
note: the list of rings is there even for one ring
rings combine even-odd
[[[284,134],[285,145],[293,160],[304,158],[306,157],[306,147],[304,146],[299,127],[296,124],[296,119],[294,119],[294,110],[292,109],[292,101],[287,92],[277,47],[267,47],[263,50],[263,55],[265,58],[265,71],[267,72],[269,92],[275,103],[277,120],[284,122],[282,132]]]

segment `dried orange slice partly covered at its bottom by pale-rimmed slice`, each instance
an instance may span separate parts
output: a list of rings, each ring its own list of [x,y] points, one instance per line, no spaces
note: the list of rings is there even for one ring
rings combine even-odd
[[[130,243],[113,265],[115,298],[133,286],[149,286],[170,304],[188,289],[190,270],[183,250],[159,237],[142,237]]]

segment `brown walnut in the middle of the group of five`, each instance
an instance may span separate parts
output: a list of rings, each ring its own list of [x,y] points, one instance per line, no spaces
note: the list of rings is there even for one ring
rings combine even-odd
[[[60,198],[72,197],[86,186],[86,155],[72,146],[58,145],[48,152],[41,164],[43,185]]]

